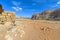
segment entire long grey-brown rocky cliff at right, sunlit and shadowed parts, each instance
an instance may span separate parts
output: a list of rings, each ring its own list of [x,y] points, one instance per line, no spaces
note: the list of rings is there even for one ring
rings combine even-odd
[[[32,15],[31,19],[60,20],[60,9],[45,10],[42,13],[35,13],[34,15]]]

